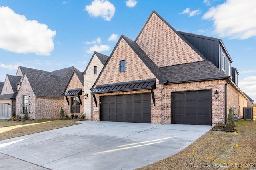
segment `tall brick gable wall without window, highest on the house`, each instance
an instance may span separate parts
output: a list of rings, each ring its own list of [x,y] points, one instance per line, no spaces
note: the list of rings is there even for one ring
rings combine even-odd
[[[158,66],[203,61],[161,18],[152,14],[136,43]]]

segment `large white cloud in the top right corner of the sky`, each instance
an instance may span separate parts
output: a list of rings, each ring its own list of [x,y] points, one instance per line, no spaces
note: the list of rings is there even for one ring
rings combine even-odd
[[[256,1],[227,0],[212,7],[202,19],[214,20],[215,33],[230,39],[248,39],[256,36]]]

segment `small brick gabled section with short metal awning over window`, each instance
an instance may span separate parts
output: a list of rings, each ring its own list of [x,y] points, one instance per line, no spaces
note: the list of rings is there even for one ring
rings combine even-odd
[[[74,71],[73,75],[64,90],[65,115],[84,114],[84,75],[83,72]]]

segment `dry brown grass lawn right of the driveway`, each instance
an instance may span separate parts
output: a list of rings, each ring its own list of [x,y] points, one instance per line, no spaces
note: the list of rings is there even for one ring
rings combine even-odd
[[[239,120],[235,128],[237,134],[208,131],[177,154],[138,170],[256,169],[256,122]]]

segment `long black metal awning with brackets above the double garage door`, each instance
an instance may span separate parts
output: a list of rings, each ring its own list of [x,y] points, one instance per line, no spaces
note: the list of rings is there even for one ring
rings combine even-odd
[[[105,85],[96,86],[92,90],[92,96],[97,106],[95,94],[125,92],[125,91],[135,91],[135,90],[151,90],[152,99],[155,106],[156,100],[155,100],[154,91],[153,91],[154,89],[156,89],[156,79],[139,80],[134,82],[122,82],[122,83],[105,84]]]

